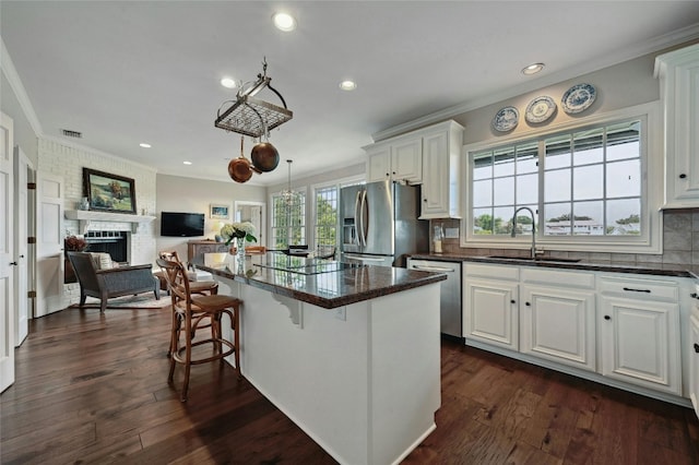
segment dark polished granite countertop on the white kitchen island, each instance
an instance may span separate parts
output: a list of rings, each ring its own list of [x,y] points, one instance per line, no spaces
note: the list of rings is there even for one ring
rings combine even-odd
[[[327,309],[447,279],[443,273],[388,266],[342,269],[333,265],[337,262],[288,258],[272,252],[248,258],[245,274],[238,274],[232,269],[230,258],[222,263],[208,260],[206,255],[220,258],[222,254],[204,254],[203,261],[193,262],[193,265],[217,276]],[[315,266],[316,264],[320,266]]]

